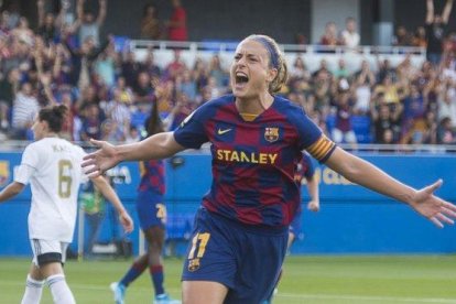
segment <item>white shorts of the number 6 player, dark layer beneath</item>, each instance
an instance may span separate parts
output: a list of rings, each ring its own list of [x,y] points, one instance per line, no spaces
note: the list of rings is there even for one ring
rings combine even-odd
[[[66,249],[69,242],[31,239],[30,245],[33,250],[33,263],[37,267],[53,262],[63,264],[66,261]]]

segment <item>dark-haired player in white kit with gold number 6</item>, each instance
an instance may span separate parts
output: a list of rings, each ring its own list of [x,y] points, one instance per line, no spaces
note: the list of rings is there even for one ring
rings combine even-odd
[[[51,289],[54,303],[76,303],[62,265],[73,239],[77,194],[84,175],[80,164],[85,152],[58,138],[65,113],[65,106],[40,110],[32,126],[35,142],[25,148],[14,181],[0,193],[0,202],[3,202],[31,183],[29,238],[33,261],[26,278],[23,304],[40,303],[44,281]],[[133,221],[111,186],[102,176],[91,180],[119,213],[124,230],[132,231]]]

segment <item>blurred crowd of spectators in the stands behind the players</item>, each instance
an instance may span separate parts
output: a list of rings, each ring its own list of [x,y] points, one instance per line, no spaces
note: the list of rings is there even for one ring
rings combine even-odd
[[[84,10],[84,0],[78,0],[72,23],[64,22],[68,7],[62,3],[59,14],[54,15],[45,12],[43,0],[37,1],[37,29],[17,13],[1,14],[3,138],[31,140],[30,127],[39,109],[64,104],[70,109],[63,133],[67,139],[132,142],[143,134],[153,102],[166,130],[173,130],[202,104],[230,91],[229,73],[224,68],[229,63],[221,63],[217,54],[209,61],[195,58],[192,66],[177,50],[166,66],[155,63],[152,50],[138,61],[134,52],[117,50],[112,35],[100,37],[106,0],[99,0],[97,13]],[[153,22],[146,20],[153,15],[153,7],[148,7],[144,31],[153,33]],[[334,26],[328,23],[322,44],[333,39],[340,44],[343,37],[344,45],[359,45],[356,20],[347,19],[347,29],[337,37]],[[410,41],[424,46],[422,34]],[[447,43],[453,43],[453,36]],[[402,41],[398,36],[395,43],[402,45]],[[355,72],[343,58],[337,66],[322,59],[316,70],[308,70],[305,57],[297,56],[289,67],[290,79],[281,94],[301,105],[338,143],[456,142],[454,47],[444,48],[438,62],[426,61],[422,66],[413,65],[404,54],[397,66],[388,59],[365,61]]]

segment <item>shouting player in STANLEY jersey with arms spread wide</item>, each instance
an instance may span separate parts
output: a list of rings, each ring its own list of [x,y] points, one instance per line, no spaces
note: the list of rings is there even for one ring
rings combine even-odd
[[[83,164],[97,176],[121,161],[164,159],[211,143],[214,180],[184,263],[184,303],[269,298],[301,200],[294,173],[302,150],[349,181],[404,202],[438,227],[453,224],[456,207],[433,195],[442,181],[422,189],[398,182],[336,146],[300,107],[274,95],[287,74],[274,40],[245,39],[230,74],[232,95],[206,102],[174,132],[117,146],[94,140],[99,150]]]

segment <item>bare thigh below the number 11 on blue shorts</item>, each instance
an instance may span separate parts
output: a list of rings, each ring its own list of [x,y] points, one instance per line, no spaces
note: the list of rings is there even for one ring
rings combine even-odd
[[[182,301],[185,304],[222,304],[227,294],[228,287],[218,282],[182,282]]]

